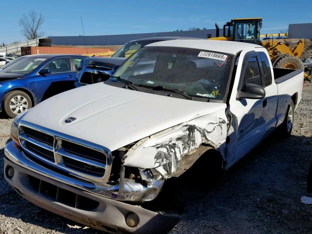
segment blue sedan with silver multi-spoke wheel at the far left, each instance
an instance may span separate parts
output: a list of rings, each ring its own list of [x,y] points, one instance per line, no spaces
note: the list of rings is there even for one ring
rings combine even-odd
[[[0,72],[0,112],[16,117],[53,95],[75,88],[85,56],[30,55]]]

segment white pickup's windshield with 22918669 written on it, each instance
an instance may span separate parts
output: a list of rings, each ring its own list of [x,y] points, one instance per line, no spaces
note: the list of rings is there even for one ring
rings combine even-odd
[[[161,86],[191,97],[223,100],[232,58],[199,49],[144,47],[127,59],[114,77],[142,87]]]

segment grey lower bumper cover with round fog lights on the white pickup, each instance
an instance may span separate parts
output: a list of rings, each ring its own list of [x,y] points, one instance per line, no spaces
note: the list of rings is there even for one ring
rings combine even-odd
[[[8,150],[5,151],[6,155]],[[13,168],[14,174],[8,174],[8,169]],[[9,176],[10,175],[10,176]],[[102,230],[109,233],[136,233],[136,234],[157,234],[169,232],[179,221],[178,216],[161,215],[142,208],[141,206],[131,205],[124,202],[108,199],[81,189],[66,185],[62,182],[51,179],[42,173],[37,173],[26,169],[20,164],[16,164],[8,158],[4,158],[4,178],[5,180],[25,199],[30,202],[64,216],[71,220],[77,221],[88,227]],[[33,180],[39,182],[39,189],[34,186]],[[47,186],[48,187],[44,187]],[[44,187],[40,192],[40,188]],[[56,198],[53,198],[47,189],[57,188]],[[60,191],[60,192],[59,192]],[[66,197],[63,202],[61,195]],[[69,197],[76,196],[75,201],[70,204]],[[80,206],[77,200],[80,199]],[[87,202],[92,200],[94,205],[91,209],[86,208]],[[82,203],[81,203],[82,201]],[[129,215],[137,217],[136,226],[133,227],[127,222]]]

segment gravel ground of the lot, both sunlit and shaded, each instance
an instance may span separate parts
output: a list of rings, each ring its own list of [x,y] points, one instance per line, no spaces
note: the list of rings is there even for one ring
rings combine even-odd
[[[0,116],[0,234],[101,233],[36,207],[8,186],[2,157],[12,121]],[[312,84],[307,83],[292,137],[267,138],[208,191],[183,189],[185,210],[170,234],[312,233],[312,206],[300,202],[307,195],[311,137]]]

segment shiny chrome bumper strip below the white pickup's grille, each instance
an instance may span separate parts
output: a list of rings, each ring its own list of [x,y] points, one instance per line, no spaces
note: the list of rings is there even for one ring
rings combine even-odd
[[[133,179],[124,179],[122,190],[119,191],[119,184],[110,186],[100,186],[87,181],[78,180],[74,177],[64,176],[55,171],[52,171],[38,163],[30,160],[18,149],[15,143],[9,142],[4,149],[5,156],[12,162],[24,167],[27,170],[38,173],[39,175],[52,178],[61,183],[74,186],[89,193],[100,195],[106,198],[111,198],[120,201],[143,202],[150,201],[156,198],[160,192],[164,180],[153,180],[147,185],[135,182]]]

